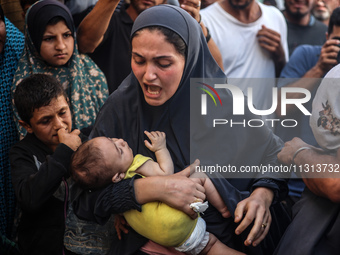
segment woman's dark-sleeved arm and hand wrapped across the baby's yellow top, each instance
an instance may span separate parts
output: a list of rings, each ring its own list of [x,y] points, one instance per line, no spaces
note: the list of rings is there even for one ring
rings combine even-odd
[[[194,165],[191,167],[194,169]],[[196,198],[204,200],[205,194],[204,188],[190,180],[189,175],[190,166],[169,176],[139,178],[135,175],[132,179],[110,184],[104,190],[83,191],[74,200],[73,209],[81,219],[104,224],[111,214],[131,209],[140,211],[141,204],[161,201],[194,219],[197,214],[189,205]]]

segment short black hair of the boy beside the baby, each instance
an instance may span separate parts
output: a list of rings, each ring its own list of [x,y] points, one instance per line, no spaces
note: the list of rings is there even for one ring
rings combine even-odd
[[[14,92],[14,104],[24,122],[30,124],[33,112],[49,105],[52,99],[67,95],[57,78],[47,74],[32,74],[23,79]]]

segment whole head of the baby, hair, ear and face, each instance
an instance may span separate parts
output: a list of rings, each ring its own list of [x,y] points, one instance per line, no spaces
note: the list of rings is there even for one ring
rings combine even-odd
[[[96,137],[73,154],[71,174],[84,189],[98,189],[122,180],[132,161],[132,150],[123,139]]]

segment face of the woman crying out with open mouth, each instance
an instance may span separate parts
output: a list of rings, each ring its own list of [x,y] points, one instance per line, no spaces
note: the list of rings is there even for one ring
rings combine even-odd
[[[162,105],[175,94],[184,65],[184,56],[160,31],[144,29],[132,39],[131,68],[149,105]]]

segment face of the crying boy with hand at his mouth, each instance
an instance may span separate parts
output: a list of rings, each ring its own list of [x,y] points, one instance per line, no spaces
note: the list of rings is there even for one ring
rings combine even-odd
[[[49,105],[34,109],[30,125],[24,127],[54,151],[59,144],[58,130],[72,130],[71,112],[65,97],[61,95],[52,99]]]

